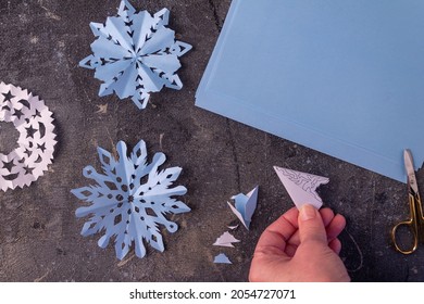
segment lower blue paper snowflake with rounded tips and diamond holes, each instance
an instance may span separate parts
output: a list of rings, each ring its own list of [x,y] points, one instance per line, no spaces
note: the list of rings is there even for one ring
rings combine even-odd
[[[135,243],[138,257],[146,255],[144,240],[152,248],[163,252],[164,245],[159,225],[165,226],[169,232],[178,229],[177,224],[165,218],[165,214],[179,214],[190,208],[173,195],[183,195],[187,189],[183,186],[170,188],[178,178],[182,168],[171,167],[158,170],[166,157],[155,153],[151,164],[147,162],[145,141],[140,140],[129,157],[125,142],[116,145],[119,160],[101,148],[98,148],[103,174],[92,166],[84,168],[85,177],[98,185],[74,189],[71,192],[78,199],[91,202],[91,205],[76,210],[76,216],[90,216],[85,223],[82,235],[90,236],[104,231],[98,244],[105,248],[114,238],[117,258],[122,259]]]

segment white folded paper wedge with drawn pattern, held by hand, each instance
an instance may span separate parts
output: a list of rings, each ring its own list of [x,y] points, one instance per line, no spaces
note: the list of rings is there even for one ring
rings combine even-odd
[[[320,195],[316,193],[316,188],[327,183],[328,178],[277,166],[274,166],[274,169],[299,210],[307,203],[316,208],[323,205]]]

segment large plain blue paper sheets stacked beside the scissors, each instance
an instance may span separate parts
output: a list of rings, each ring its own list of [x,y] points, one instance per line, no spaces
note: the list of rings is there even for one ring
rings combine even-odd
[[[423,54],[420,0],[234,0],[196,104],[404,181]]]

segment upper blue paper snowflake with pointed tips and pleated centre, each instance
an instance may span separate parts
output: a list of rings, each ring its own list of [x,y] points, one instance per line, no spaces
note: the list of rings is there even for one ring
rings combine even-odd
[[[105,24],[90,23],[96,37],[92,54],[79,65],[96,69],[95,77],[103,81],[99,96],[113,92],[120,99],[132,97],[145,109],[150,92],[163,86],[180,89],[176,75],[178,58],[191,49],[175,40],[175,31],[165,27],[170,11],[163,9],[153,16],[147,11],[136,13],[127,0],[121,1],[119,16],[108,17]]]

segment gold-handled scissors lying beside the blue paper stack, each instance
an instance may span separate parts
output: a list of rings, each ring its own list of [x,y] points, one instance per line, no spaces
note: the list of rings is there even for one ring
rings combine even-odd
[[[421,205],[421,199],[419,193],[419,186],[416,183],[416,177],[413,166],[413,159],[412,153],[410,150],[404,150],[403,152],[404,157],[404,167],[407,169],[408,174],[408,200],[409,200],[409,207],[411,216],[408,220],[403,220],[395,225],[395,227],[391,229],[391,239],[395,243],[395,248],[397,251],[403,253],[403,254],[411,254],[413,253],[416,248],[419,246],[419,241],[424,239],[423,232],[424,232],[424,217],[423,217],[423,207]],[[397,233],[399,227],[404,227],[409,229],[413,237],[413,244],[410,249],[404,249],[399,246],[399,243],[397,241]]]

